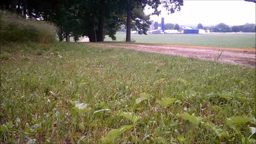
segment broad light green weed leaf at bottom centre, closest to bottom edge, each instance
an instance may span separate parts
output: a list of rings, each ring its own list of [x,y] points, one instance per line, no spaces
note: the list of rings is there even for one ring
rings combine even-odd
[[[114,139],[116,139],[120,134],[124,133],[126,130],[131,129],[133,125],[124,125],[119,129],[110,130],[107,134],[107,137],[102,138],[103,143],[110,143]]]

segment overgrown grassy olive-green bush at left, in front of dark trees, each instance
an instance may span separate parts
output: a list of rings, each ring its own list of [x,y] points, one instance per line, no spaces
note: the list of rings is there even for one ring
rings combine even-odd
[[[51,43],[56,39],[57,28],[49,22],[26,19],[0,10],[1,42]]]

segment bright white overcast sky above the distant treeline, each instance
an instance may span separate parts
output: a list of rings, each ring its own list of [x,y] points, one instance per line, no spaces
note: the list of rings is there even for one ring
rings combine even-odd
[[[160,8],[160,6],[159,6]],[[162,8],[162,6],[161,6]],[[178,23],[179,25],[197,25],[202,23],[203,26],[217,25],[225,23],[229,26],[244,25],[245,23],[255,23],[256,4],[236,1],[191,1],[185,0],[181,11],[173,14],[167,14],[165,9],[161,9],[162,13],[151,15],[150,20],[164,23]],[[145,13],[149,14],[152,10],[145,9]]]

